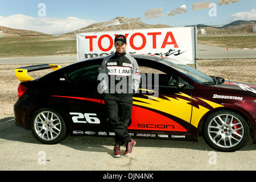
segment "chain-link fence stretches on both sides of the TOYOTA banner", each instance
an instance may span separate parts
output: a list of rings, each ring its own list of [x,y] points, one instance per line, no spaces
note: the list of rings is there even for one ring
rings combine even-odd
[[[252,27],[250,29],[197,26],[196,58],[255,59],[256,32]],[[11,36],[3,33],[0,38],[0,64],[75,62],[76,33]]]

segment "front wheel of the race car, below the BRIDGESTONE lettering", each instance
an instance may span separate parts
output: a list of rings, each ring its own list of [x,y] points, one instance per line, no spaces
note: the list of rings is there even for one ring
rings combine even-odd
[[[218,151],[233,152],[248,142],[250,129],[245,119],[230,110],[216,111],[204,123],[204,139]]]

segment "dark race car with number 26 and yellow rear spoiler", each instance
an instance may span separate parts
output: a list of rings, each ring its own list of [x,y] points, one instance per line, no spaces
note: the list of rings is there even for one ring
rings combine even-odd
[[[256,143],[256,85],[208,76],[177,60],[131,55],[141,70],[128,126],[132,138],[197,141],[231,152],[251,137]],[[21,81],[14,104],[16,125],[46,144],[68,135],[114,137],[99,70],[104,57],[67,65],[43,64],[15,69]],[[42,77],[29,72],[52,68]]]

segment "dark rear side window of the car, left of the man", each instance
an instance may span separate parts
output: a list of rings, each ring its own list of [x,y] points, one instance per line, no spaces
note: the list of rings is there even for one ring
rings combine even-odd
[[[69,81],[80,84],[96,84],[99,71],[100,65],[93,65],[69,72],[67,77]]]

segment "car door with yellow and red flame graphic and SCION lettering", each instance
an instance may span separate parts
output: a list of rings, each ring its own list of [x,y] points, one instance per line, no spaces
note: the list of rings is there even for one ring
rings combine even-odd
[[[140,66],[141,85],[139,93],[133,97],[133,115],[128,129],[138,137],[168,136],[175,139],[180,135],[185,139],[191,127],[189,84],[170,69],[163,72],[163,65],[159,68],[157,64],[149,65]],[[147,131],[150,135],[144,135]]]

